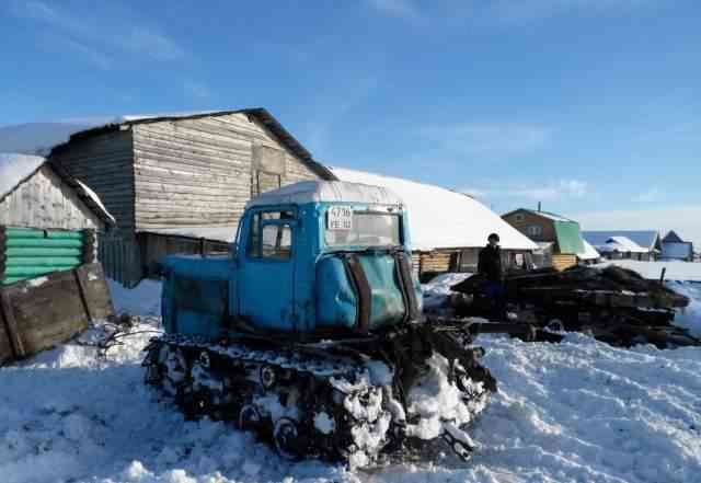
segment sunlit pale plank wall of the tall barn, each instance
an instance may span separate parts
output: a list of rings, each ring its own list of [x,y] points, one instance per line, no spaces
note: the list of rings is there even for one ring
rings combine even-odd
[[[137,231],[232,226],[252,195],[318,177],[245,114],[137,124],[133,135]],[[254,163],[254,150],[267,153]]]

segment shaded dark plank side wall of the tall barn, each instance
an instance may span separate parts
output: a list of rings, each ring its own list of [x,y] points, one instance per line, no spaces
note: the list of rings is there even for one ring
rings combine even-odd
[[[50,160],[85,183],[116,218],[119,231],[134,229],[131,131],[113,130],[55,149]]]

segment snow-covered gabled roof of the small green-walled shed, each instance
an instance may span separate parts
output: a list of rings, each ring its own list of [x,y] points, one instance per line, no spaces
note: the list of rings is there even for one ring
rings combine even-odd
[[[42,168],[47,166],[70,186],[78,197],[106,225],[115,225],[114,217],[104,207],[97,195],[80,181],[68,175],[60,166],[39,156],[0,153],[0,202],[30,180]]]

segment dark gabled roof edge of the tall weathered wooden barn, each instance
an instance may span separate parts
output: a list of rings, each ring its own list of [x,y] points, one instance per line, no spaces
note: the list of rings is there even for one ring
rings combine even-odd
[[[116,117],[112,122],[103,125],[84,129],[78,133],[73,133],[69,140],[60,145],[55,146],[51,149],[59,151],[66,148],[70,142],[79,139],[84,139],[91,136],[108,133],[112,130],[120,129],[123,126],[131,126],[136,124],[160,123],[163,120],[180,120],[180,119],[197,119],[202,117],[218,117],[230,114],[245,114],[249,118],[254,118],[263,126],[265,126],[275,136],[279,142],[290,150],[300,160],[307,163],[317,174],[325,180],[335,180],[333,173],[326,169],[323,164],[317,162],[311,153],[299,142],[283,125],[264,107],[251,107],[243,110],[228,110],[228,111],[203,111],[196,113],[171,113],[171,114],[153,114],[153,115],[124,115]],[[49,154],[50,157],[50,154]]]

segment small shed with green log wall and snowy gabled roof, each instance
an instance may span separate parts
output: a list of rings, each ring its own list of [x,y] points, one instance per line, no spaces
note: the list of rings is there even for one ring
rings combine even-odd
[[[0,154],[0,284],[94,262],[113,223],[88,186],[44,158]]]

